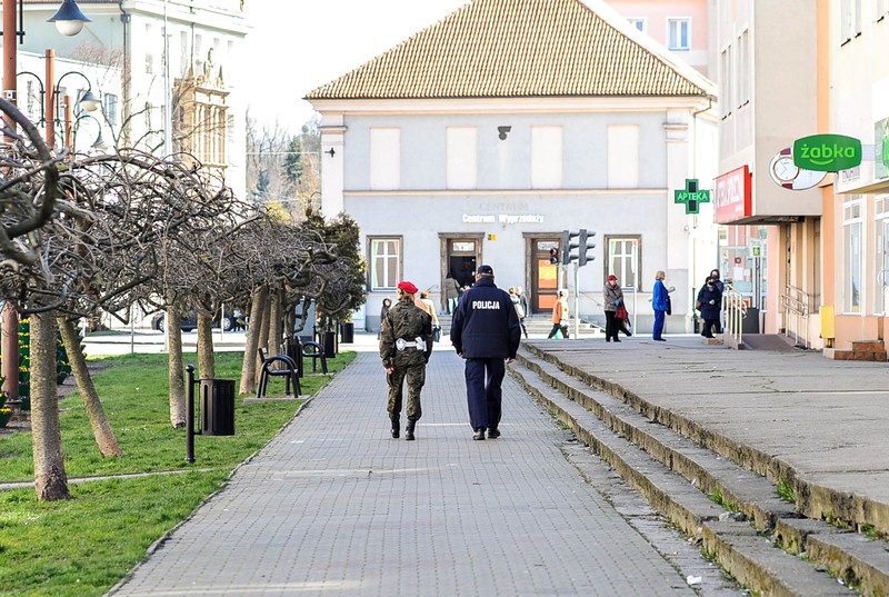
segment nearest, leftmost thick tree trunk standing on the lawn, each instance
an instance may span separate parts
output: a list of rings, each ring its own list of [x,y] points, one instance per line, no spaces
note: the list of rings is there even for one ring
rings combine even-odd
[[[59,387],[56,381],[56,318],[36,314],[31,320],[31,441],[37,499],[70,499],[59,428]]]

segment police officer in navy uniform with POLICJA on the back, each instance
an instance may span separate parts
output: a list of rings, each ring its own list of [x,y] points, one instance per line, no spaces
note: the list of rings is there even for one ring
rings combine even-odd
[[[521,341],[519,316],[506,290],[493,283],[493,268],[480,266],[451,321],[451,344],[466,360],[466,394],[472,439],[500,437],[501,384]],[[505,362],[506,361],[506,362]]]

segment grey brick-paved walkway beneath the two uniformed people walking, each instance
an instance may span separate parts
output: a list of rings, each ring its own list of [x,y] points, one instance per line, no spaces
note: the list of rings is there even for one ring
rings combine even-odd
[[[502,437],[472,441],[462,361],[440,347],[418,439],[394,440],[376,339],[357,341],[353,365],[114,595],[693,595],[515,380]]]

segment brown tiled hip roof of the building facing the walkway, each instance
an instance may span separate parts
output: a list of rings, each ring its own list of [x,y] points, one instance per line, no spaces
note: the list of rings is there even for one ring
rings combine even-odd
[[[586,1],[472,0],[307,99],[711,94],[697,71]]]

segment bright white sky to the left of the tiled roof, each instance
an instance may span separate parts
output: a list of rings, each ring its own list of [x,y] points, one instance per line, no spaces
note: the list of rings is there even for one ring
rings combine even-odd
[[[247,0],[250,116],[297,132],[316,87],[408,39],[469,0]],[[277,71],[277,72],[276,72]]]

